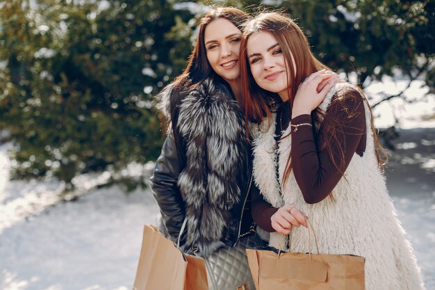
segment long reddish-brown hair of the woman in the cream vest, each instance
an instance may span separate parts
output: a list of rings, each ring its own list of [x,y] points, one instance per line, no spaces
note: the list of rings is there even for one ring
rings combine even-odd
[[[295,95],[297,92],[297,88],[299,84],[306,79],[313,72],[317,72],[318,70],[322,70],[324,68],[328,69],[326,65],[318,61],[315,56],[311,53],[311,49],[309,47],[309,42],[306,39],[306,36],[302,32],[302,30],[297,26],[297,24],[290,19],[288,15],[284,15],[283,13],[269,12],[269,13],[260,13],[256,17],[252,18],[248,22],[245,23],[245,29],[243,32],[243,39],[240,45],[240,74],[242,79],[242,95],[243,101],[245,105],[245,117],[249,122],[261,122],[265,118],[270,120],[271,116],[271,108],[268,106],[268,102],[266,99],[270,92],[266,92],[261,89],[252,76],[252,72],[249,68],[249,63],[247,61],[247,40],[249,36],[257,33],[259,31],[265,31],[271,33],[274,38],[276,38],[281,50],[283,52],[284,58],[286,59],[289,67],[289,72],[287,74],[290,77],[288,83],[288,95],[289,95],[289,106],[293,107],[293,101],[295,99]],[[294,56],[295,66],[293,66],[292,54]],[[297,68],[297,70],[295,70]],[[361,95],[360,95],[361,94]],[[364,95],[362,91],[359,90],[359,93],[345,93],[338,95],[338,97],[334,100],[334,102],[343,102],[345,97],[360,97],[363,98]],[[370,106],[369,106],[370,109]],[[371,110],[370,110],[371,113]],[[352,116],[349,116],[350,118]],[[331,157],[332,162],[334,163],[334,167],[340,172],[344,173],[344,150],[343,147],[333,148],[332,143],[340,144],[340,137],[342,136],[340,133],[343,133],[343,124],[340,124],[333,115],[326,115],[325,112],[321,111],[320,108],[316,108],[315,111],[311,112],[311,122],[313,123],[313,133],[316,137],[317,130],[316,124],[320,122],[330,119],[331,126],[324,128],[327,130],[327,134],[329,138],[325,141],[324,144],[318,144],[320,149],[327,149],[329,156]],[[270,122],[269,122],[270,123]],[[378,152],[378,149],[383,152],[386,156],[384,149],[379,145],[377,140],[377,134],[375,128],[373,126],[373,120],[371,120],[371,129],[373,131],[373,136],[375,139],[375,147],[377,161],[379,167],[382,169],[384,165],[384,161],[381,159],[381,156]],[[361,132],[363,134],[363,132]],[[288,136],[283,136],[281,138],[286,138]],[[333,142],[334,141],[334,142]],[[344,145],[343,145],[344,146]],[[334,151],[338,149],[338,156],[334,154]],[[291,172],[291,156],[286,161],[286,168],[284,170],[284,180],[282,185],[286,184],[288,177]]]

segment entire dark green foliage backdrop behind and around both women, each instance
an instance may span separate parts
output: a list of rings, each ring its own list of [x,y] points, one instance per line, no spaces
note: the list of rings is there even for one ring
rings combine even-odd
[[[155,159],[163,134],[152,96],[186,65],[199,13],[210,4],[252,12],[262,1],[38,2],[0,2],[0,130],[17,147],[16,177],[69,183]],[[434,1],[266,3],[297,19],[322,62],[356,72],[363,86],[399,69],[435,92]]]

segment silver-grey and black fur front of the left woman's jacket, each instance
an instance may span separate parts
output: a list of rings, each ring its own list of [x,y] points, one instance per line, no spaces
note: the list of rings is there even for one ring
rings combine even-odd
[[[166,117],[169,95],[163,95],[160,106]],[[244,116],[236,101],[207,79],[182,100],[177,127],[186,144],[186,167],[178,179],[187,220],[183,250],[197,248],[205,257],[224,245],[230,210],[240,202]]]

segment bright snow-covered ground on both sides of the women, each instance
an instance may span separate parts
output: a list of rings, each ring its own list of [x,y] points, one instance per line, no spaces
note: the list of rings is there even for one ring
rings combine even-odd
[[[434,113],[433,101],[420,115]],[[435,128],[413,120],[414,129],[399,131],[386,175],[427,290],[435,290]],[[158,212],[149,190],[92,189],[104,182],[102,173],[81,177],[83,194],[61,202],[59,182],[10,181],[8,148],[0,146],[0,289],[131,289],[142,226],[155,223]]]

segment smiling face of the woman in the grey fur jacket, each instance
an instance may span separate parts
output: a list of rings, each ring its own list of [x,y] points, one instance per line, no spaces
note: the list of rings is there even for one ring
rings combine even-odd
[[[204,31],[204,44],[208,62],[216,74],[231,82],[240,76],[238,56],[242,33],[229,20],[218,18]]]

